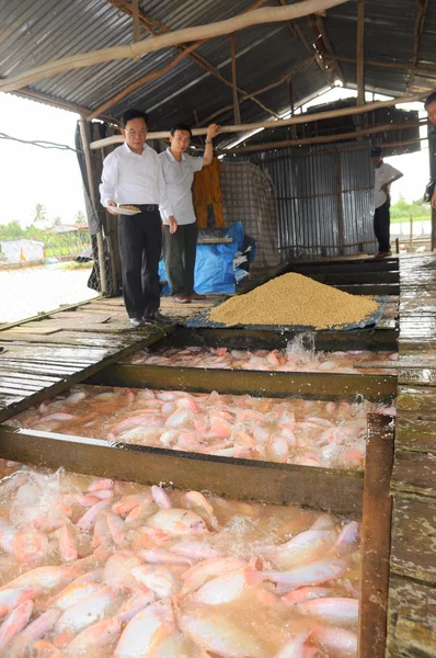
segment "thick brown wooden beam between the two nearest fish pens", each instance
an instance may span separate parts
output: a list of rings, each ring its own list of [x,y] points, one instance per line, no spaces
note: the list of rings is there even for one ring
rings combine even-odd
[[[0,427],[0,456],[49,468],[141,484],[171,483],[217,496],[302,504],[359,514],[363,474],[273,462],[233,460],[141,445],[114,444]]]

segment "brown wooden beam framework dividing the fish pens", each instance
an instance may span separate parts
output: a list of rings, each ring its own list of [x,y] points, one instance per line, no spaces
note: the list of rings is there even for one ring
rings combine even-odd
[[[381,336],[380,336],[381,334]],[[296,333],[274,330],[181,329],[152,343],[151,350],[186,345],[234,349],[279,350]],[[390,325],[374,331],[315,332],[313,347],[325,352],[339,350],[395,350],[397,329]],[[302,344],[305,337],[301,339]],[[148,341],[150,342],[150,341]],[[393,458],[394,418],[389,413],[397,392],[394,362],[367,361],[359,373],[264,372],[190,366],[135,364],[121,360],[83,382],[83,389],[175,390],[194,395],[267,397],[276,400],[320,400],[346,402],[359,396],[383,404],[387,413],[369,413],[365,469],[324,468],[264,460],[236,458],[199,452],[179,451],[14,427],[14,419],[0,428],[3,458],[94,477],[116,478],[142,485],[161,484],[177,490],[208,491],[241,501],[275,506],[298,504],[362,521],[360,612],[358,655],[383,656],[388,597],[390,515],[390,472]],[[383,367],[388,366],[388,367]],[[374,374],[376,371],[376,374]],[[334,653],[332,654],[334,655]],[[353,654],[352,654],[353,655]]]

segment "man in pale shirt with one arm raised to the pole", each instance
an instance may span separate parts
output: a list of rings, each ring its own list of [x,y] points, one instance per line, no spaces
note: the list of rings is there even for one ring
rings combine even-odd
[[[190,304],[192,299],[204,299],[194,291],[195,256],[197,250],[197,225],[192,198],[194,173],[211,164],[213,139],[219,127],[207,128],[206,148],[203,158],[185,154],[191,141],[191,128],[176,125],[171,129],[170,147],[159,155],[171,207],[177,218],[177,229],[171,229],[169,209],[160,206],[163,222],[163,260],[171,285],[173,300]]]

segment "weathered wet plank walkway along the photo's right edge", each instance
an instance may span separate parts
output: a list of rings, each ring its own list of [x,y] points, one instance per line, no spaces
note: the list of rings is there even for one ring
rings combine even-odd
[[[388,658],[436,656],[436,256],[400,259]]]

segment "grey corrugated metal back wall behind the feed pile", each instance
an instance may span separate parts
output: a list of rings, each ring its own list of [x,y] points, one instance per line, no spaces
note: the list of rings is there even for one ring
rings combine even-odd
[[[362,146],[362,144],[359,144]],[[374,170],[355,143],[253,155],[273,179],[283,258],[374,253]]]

